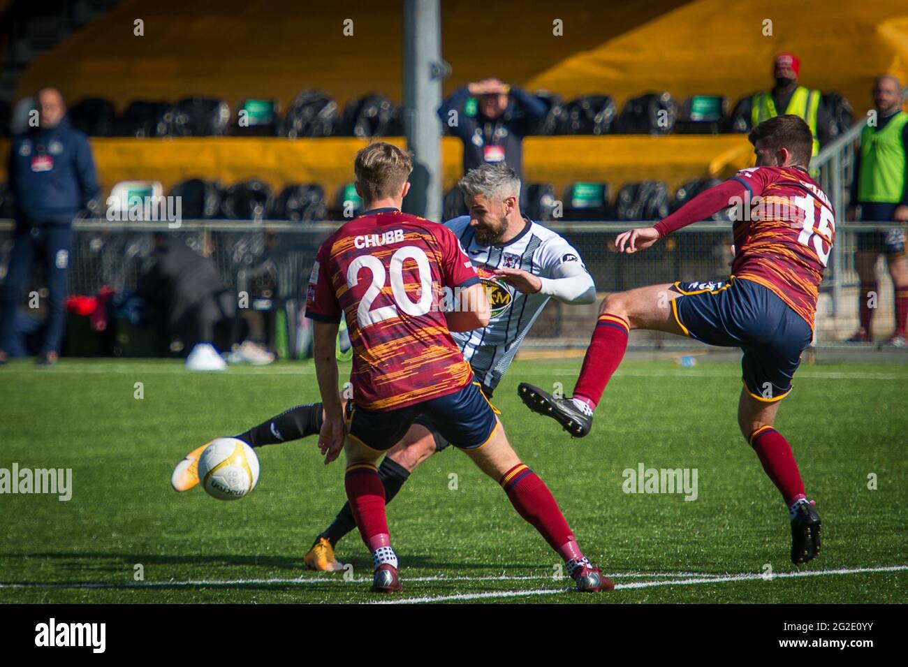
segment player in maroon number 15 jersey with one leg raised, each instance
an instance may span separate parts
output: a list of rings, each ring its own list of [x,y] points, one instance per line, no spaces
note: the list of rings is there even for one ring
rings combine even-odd
[[[820,281],[835,229],[834,211],[807,172],[813,136],[794,115],[776,116],[749,134],[756,166],[707,190],[655,227],[618,235],[618,251],[646,250],[672,231],[707,220],[735,203],[735,260],[724,282],[676,282],[610,294],[602,302],[573,397],[556,398],[528,384],[518,393],[571,436],[583,437],[621,363],[631,329],[666,331],[744,351],[738,425],[779,489],[792,526],[792,561],[820,553],[820,517],[804,494],[795,456],[775,427],[779,401],[791,390],[801,353],[813,338]],[[756,198],[759,197],[760,200]]]

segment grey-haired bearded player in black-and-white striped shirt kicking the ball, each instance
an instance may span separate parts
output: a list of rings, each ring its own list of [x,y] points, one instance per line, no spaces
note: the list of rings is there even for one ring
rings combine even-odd
[[[520,181],[508,165],[489,164],[470,170],[459,187],[470,215],[447,225],[479,271],[491,301],[491,314],[488,326],[452,332],[452,336],[479,379],[483,394],[491,399],[548,299],[567,304],[592,303],[596,286],[579,253],[567,240],[521,215]],[[318,434],[322,420],[321,403],[301,405],[236,437],[253,447],[290,442]],[[198,447],[176,466],[175,489],[185,491],[198,484],[198,456],[206,446],[207,443]],[[385,502],[398,494],[422,461],[447,446],[449,442],[428,417],[417,417],[379,466]],[[334,547],[355,528],[350,504],[345,504],[305,554],[306,565],[313,570],[341,570],[343,565],[336,559]]]

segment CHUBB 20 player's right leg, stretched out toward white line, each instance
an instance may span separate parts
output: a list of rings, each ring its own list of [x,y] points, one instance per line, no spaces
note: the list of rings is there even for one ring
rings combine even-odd
[[[561,556],[565,569],[577,583],[577,591],[598,593],[615,588],[615,584],[580,551],[548,486],[520,462],[500,423],[485,445],[464,451],[482,472],[498,481],[518,514]]]

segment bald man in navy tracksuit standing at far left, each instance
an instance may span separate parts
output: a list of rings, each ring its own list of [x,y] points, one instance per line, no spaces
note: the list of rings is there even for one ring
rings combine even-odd
[[[88,140],[66,119],[63,95],[42,88],[35,96],[37,124],[16,134],[10,145],[7,179],[15,205],[15,235],[9,271],[0,289],[0,364],[13,333],[15,313],[32,277],[44,264],[47,320],[36,363],[53,364],[60,352],[66,313],[66,274],[72,222],[98,192]]]

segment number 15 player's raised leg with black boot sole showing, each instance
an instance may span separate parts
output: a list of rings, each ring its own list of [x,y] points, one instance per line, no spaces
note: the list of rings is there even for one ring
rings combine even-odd
[[[518,396],[533,412],[555,419],[571,436],[583,437],[593,427],[593,411],[627,350],[630,329],[655,329],[684,335],[672,315],[671,302],[680,296],[671,285],[652,285],[609,294],[599,308],[593,338],[583,358],[580,377],[570,398],[553,397],[526,382]]]

